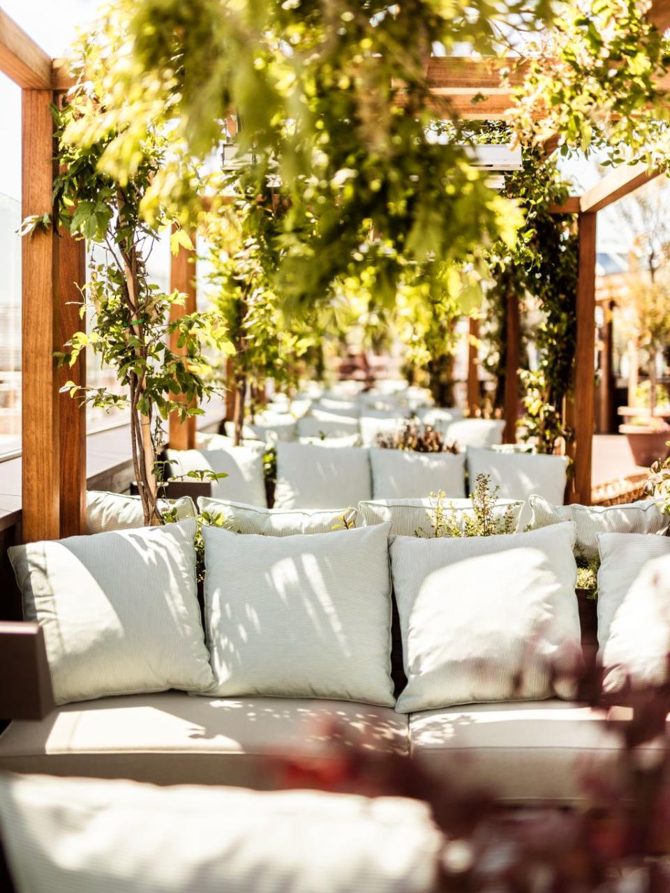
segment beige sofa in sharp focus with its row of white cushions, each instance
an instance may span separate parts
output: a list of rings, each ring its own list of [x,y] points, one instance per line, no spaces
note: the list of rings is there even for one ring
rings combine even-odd
[[[326,533],[339,510],[238,510],[256,532],[205,529],[199,609],[188,517],[17,547],[32,623],[2,640],[31,644],[2,686],[34,685],[44,715],[4,731],[0,770],[275,789],[287,757],[327,764],[359,746],[503,802],[586,805],[585,765],[614,771],[621,743],[574,701],[580,636],[593,643],[575,550],[599,549],[599,644],[616,664],[617,647],[632,650],[630,603],[645,604],[636,580],[670,560],[666,519],[649,502],[537,497],[537,530],[431,539],[410,535],[408,509],[424,503],[408,503],[362,506],[386,520]],[[259,536],[268,516],[276,530]]]

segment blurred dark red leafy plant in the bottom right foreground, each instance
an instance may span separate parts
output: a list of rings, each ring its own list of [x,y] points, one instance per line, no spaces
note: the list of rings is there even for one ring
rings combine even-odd
[[[595,660],[578,682],[577,700],[603,714],[621,748],[615,780],[584,767],[587,809],[510,808],[495,789],[464,784],[458,757],[433,774],[420,761],[351,739],[337,723],[319,730],[333,759],[285,760],[277,768],[285,787],[425,801],[444,835],[436,893],[668,893],[670,687],[629,685],[622,712],[602,696]],[[653,759],[641,753],[650,742]]]

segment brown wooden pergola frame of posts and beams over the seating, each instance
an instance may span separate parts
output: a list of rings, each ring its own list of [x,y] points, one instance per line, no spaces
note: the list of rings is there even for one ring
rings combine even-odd
[[[670,26],[670,3],[653,4],[649,18],[665,30]],[[462,117],[505,120],[511,97],[502,83],[503,67],[507,67],[504,60],[431,58],[428,74],[433,93],[448,97]],[[0,9],[0,71],[21,88],[22,216],[50,214],[56,171],[49,108],[72,85],[67,63],[48,56]],[[522,77],[523,67],[517,66],[512,84]],[[550,140],[547,151],[556,145],[556,140]],[[552,208],[553,213],[576,214],[579,228],[574,405],[568,411],[575,431],[574,502],[589,503],[591,491],[597,215],[655,176],[657,173],[649,173],[645,165],[624,166],[584,195],[572,196],[564,205]],[[85,384],[86,361],[82,355],[74,367],[59,370],[54,351],[62,349],[80,329],[77,286],[86,281],[86,263],[83,241],[63,231],[34,232],[22,240],[21,255],[22,537],[29,542],[71,536],[85,529],[86,413],[78,401],[60,394],[60,388],[68,379]],[[175,313],[190,312],[196,305],[195,263],[189,255],[192,253],[181,248],[172,258],[171,288],[188,296],[186,307],[174,308]],[[518,297],[507,307],[507,331],[507,439],[514,440],[519,412]],[[477,334],[476,321],[471,334]],[[477,373],[473,349],[469,369],[468,402],[473,404]],[[180,426],[172,419],[170,438],[175,447],[194,446],[194,422]]]

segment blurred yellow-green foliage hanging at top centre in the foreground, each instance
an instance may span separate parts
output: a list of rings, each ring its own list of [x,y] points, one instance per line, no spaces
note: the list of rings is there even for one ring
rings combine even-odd
[[[368,280],[382,305],[401,286],[437,300],[446,287],[449,295],[476,287],[487,244],[513,243],[521,215],[468,163],[448,99],[430,96],[424,57],[462,41],[490,53],[519,14],[534,28],[549,11],[544,0],[474,0],[467,9],[437,0],[125,0],[120,8],[130,53],[111,67],[107,114],[119,138],[102,169],[132,176],[143,121],[172,117],[172,161],[143,207],[151,219],[178,204],[192,219],[201,209],[181,168],[221,150],[222,121],[234,110],[237,153],[249,156],[244,183],[233,172],[214,189],[276,196],[283,213],[268,274],[282,304],[314,305],[344,277]],[[433,126],[443,120],[453,122],[449,142]]]

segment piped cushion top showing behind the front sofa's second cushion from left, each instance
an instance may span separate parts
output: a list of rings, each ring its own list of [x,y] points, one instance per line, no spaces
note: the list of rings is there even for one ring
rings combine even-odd
[[[347,514],[356,524],[356,509],[282,509],[258,508],[255,505],[227,502],[224,499],[200,497],[197,507],[201,512],[222,515],[233,533],[256,533],[264,537],[293,537],[298,533],[331,533],[342,524]]]

